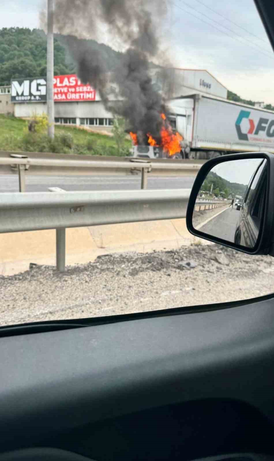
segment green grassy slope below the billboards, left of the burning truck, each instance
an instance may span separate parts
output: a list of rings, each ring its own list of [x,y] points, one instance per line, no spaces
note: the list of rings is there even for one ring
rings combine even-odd
[[[0,150],[24,151],[26,148],[24,136],[28,133],[27,127],[28,122],[25,120],[0,115]],[[119,155],[112,136],[92,133],[76,127],[56,125],[55,134],[58,136],[61,133],[69,133],[73,137],[74,148],[70,149],[57,144],[54,149],[56,153],[60,151],[60,153],[92,155],[100,152],[101,155]],[[30,137],[31,135],[28,134],[27,136]],[[94,144],[94,150],[86,148],[87,142]],[[45,142],[43,142],[43,146],[45,146]],[[125,146],[130,148],[131,142],[125,141]],[[36,149],[45,151],[45,147],[39,149],[39,142],[34,143],[34,149],[32,150]]]

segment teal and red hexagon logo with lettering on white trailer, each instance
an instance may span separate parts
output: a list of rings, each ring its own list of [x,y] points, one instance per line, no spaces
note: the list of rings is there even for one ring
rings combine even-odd
[[[244,132],[246,131],[246,128],[244,131],[241,128],[244,119],[248,119],[249,122],[249,129],[247,132]],[[241,141],[249,141],[248,135],[261,135],[262,132],[265,132],[265,136],[269,138],[274,137],[274,120],[260,117],[259,120],[255,123],[253,118],[250,118],[250,111],[240,111],[235,123],[235,128],[238,138]]]

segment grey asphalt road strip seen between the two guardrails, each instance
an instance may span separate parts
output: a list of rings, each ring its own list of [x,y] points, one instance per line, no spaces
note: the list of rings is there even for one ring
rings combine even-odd
[[[191,189],[194,176],[148,177],[148,189]],[[27,176],[26,192],[46,192],[48,187],[77,190],[141,189],[141,175],[136,176]],[[0,193],[18,192],[17,175],[0,175]]]

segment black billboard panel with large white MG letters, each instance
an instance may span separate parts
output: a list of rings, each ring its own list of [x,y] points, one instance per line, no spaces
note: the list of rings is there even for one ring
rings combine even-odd
[[[11,82],[11,102],[46,102],[47,79],[18,78]]]

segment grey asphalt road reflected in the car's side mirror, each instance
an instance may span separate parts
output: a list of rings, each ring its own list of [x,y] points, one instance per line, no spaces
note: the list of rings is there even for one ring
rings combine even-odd
[[[234,235],[239,217],[240,211],[229,207],[222,213],[210,219],[208,223],[199,228],[199,231],[205,232],[206,234],[214,237],[228,240],[228,242],[234,242]]]

